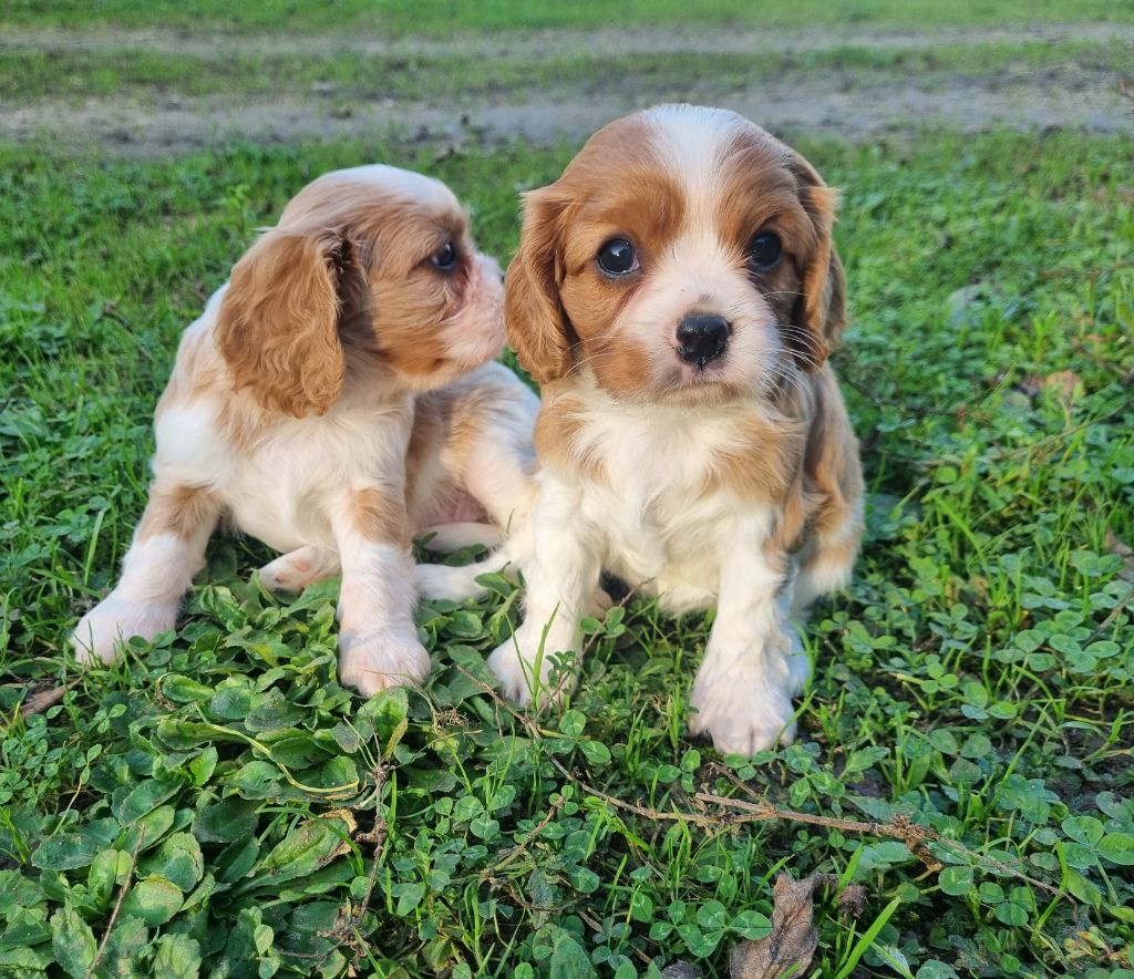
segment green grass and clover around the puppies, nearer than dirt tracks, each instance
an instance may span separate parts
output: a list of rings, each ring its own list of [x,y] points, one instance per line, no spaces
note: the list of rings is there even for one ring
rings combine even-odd
[[[798,742],[752,759],[688,737],[700,617],[590,623],[569,709],[515,716],[482,686],[516,616],[498,580],[421,610],[424,692],[363,702],[335,583],[266,594],[248,540],[213,542],[176,635],[87,674],[65,652],[141,512],[177,336],[256,226],[384,159],[507,255],[517,189],[570,147],[0,149],[3,974],[723,976],[779,871],[865,887],[857,919],[818,902],[821,976],[1134,974],[1128,141],[802,149],[845,192],[870,535],[809,628]],[[943,867],[839,824],[706,826],[703,788],[908,817]]]

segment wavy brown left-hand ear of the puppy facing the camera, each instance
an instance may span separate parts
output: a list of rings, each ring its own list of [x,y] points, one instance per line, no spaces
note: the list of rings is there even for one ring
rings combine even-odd
[[[508,343],[521,365],[541,385],[572,365],[574,335],[559,302],[562,208],[550,188],[524,195],[519,248],[505,276]]]

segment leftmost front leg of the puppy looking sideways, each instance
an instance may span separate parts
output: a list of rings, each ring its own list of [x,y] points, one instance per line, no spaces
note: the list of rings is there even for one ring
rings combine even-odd
[[[118,584],[71,635],[81,664],[113,662],[130,636],[149,641],[174,627],[181,596],[204,567],[219,513],[208,489],[154,480]]]

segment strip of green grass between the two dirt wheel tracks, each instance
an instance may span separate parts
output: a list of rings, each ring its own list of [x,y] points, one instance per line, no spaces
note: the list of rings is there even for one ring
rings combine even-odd
[[[474,53],[380,56],[330,53],[202,54],[122,48],[95,51],[14,48],[0,51],[0,99],[43,96],[164,98],[171,94],[291,95],[330,101],[399,99],[477,104],[523,101],[533,91],[637,101],[688,98],[691,91],[728,92],[761,84],[806,83],[846,76],[858,87],[907,83],[932,90],[957,74],[1001,78],[1005,71],[1123,71],[1134,45],[1112,41],[947,44],[931,50],[832,47],[807,52],[704,54],[693,52],[485,58]]]

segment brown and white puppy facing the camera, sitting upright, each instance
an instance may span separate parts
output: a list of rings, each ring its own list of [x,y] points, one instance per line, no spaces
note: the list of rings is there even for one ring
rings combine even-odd
[[[844,585],[857,442],[827,354],[844,326],[836,193],[733,112],[662,106],[525,196],[506,319],[543,385],[526,618],[490,664],[548,691],[606,568],[674,613],[717,607],[694,732],[790,740],[809,661],[788,623]]]

